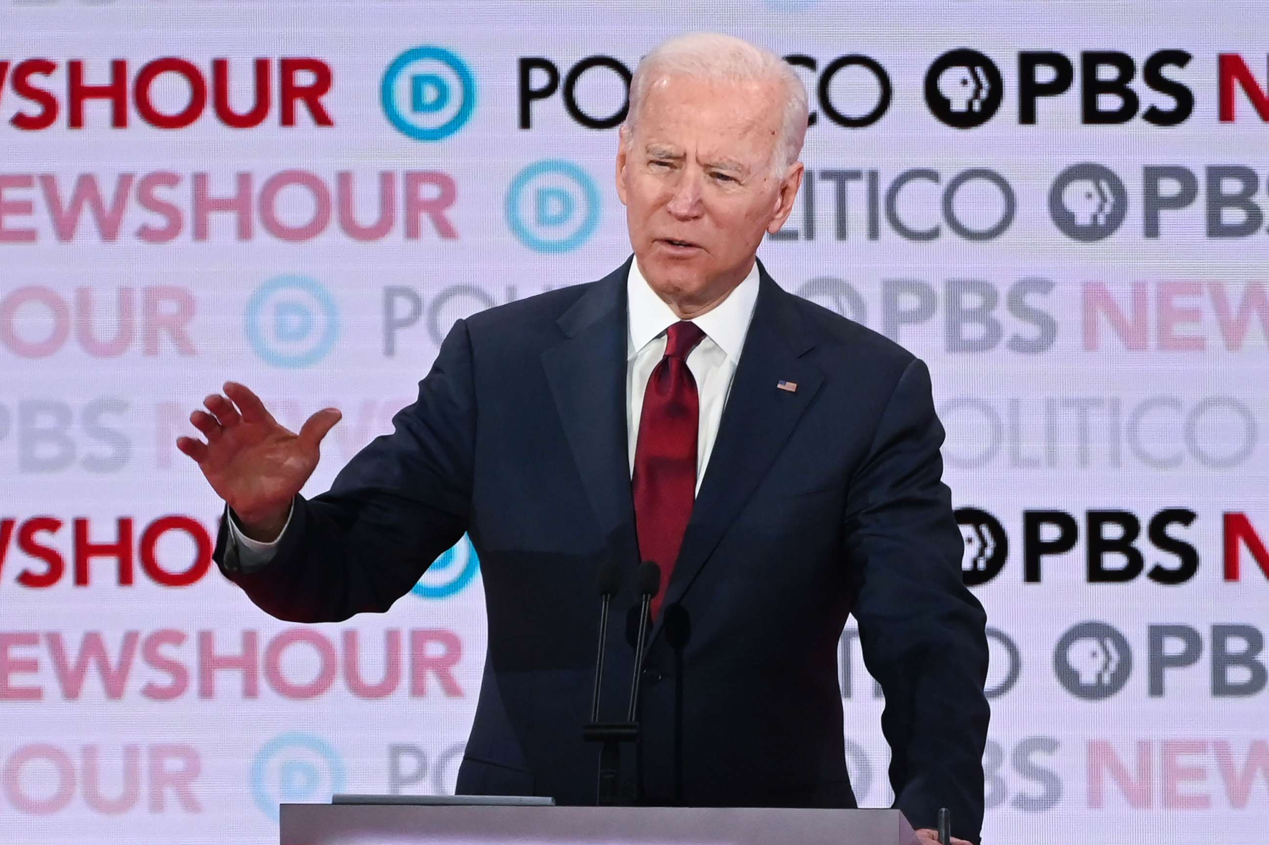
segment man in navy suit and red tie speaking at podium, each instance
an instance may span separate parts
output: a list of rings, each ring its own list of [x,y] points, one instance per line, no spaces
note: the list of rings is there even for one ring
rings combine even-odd
[[[977,840],[985,615],[929,373],[755,258],[802,181],[806,91],[773,53],[688,36],[640,63],[629,107],[633,259],[459,320],[329,492],[298,494],[336,410],[292,434],[228,382],[190,415],[207,443],[178,447],[230,509],[214,558],[278,618],[341,620],[387,610],[470,533],[489,651],[458,790],[560,803],[595,801],[581,726],[605,562],[626,573],[610,642],[637,563],[662,572],[622,769],[645,803],[854,807],[836,671],[854,613],[896,806],[925,839],[949,807]],[[623,717],[632,660],[610,651],[602,718]]]

